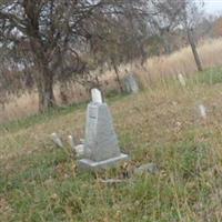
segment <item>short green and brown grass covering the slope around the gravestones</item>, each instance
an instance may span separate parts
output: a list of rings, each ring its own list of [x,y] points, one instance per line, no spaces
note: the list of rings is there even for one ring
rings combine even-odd
[[[222,221],[221,98],[222,69],[212,69],[185,88],[172,78],[109,100],[131,161],[98,174],[79,172],[69,145],[57,149],[49,137],[83,138],[85,104],[1,125],[0,221]],[[133,174],[150,162],[159,173]]]

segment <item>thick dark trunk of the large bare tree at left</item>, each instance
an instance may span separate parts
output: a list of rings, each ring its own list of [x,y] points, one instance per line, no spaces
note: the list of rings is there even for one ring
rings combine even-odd
[[[22,6],[26,13],[26,31],[29,38],[30,48],[33,54],[33,62],[37,69],[34,75],[39,94],[39,111],[44,112],[54,105],[53,75],[49,68],[50,47],[44,44],[40,28],[40,11],[36,1],[23,0]]]

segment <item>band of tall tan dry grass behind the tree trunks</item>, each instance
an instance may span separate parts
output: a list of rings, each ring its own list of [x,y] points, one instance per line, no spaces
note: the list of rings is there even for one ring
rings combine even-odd
[[[214,39],[201,42],[199,52],[204,68],[212,68],[222,64],[222,39]],[[183,48],[170,56],[162,56],[148,59],[143,68],[137,62],[120,67],[120,75],[123,78],[127,73],[135,73],[143,89],[152,88],[161,79],[162,81],[178,73],[192,74],[196,70],[194,59],[190,47]],[[107,71],[102,79],[103,90],[108,93],[118,89],[115,74],[113,71]],[[59,90],[54,89],[56,98],[60,101]],[[78,103],[88,99],[88,93],[80,85],[73,85],[68,93],[70,103]],[[38,111],[37,93],[24,94],[16,98],[4,110],[0,111],[0,122],[27,117]]]

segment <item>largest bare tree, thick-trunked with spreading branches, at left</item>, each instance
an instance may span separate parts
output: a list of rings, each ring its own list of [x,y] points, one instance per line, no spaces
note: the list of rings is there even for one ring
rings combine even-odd
[[[83,50],[94,37],[99,44],[109,34],[98,34],[98,27],[121,23],[129,7],[134,12],[140,11],[140,1],[0,1],[0,47],[17,49],[19,65],[27,63],[26,67],[37,70],[31,77],[38,89],[41,112],[54,104],[57,80],[67,80],[85,70],[80,59]]]

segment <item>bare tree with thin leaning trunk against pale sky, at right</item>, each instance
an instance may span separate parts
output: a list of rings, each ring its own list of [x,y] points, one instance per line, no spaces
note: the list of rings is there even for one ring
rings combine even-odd
[[[196,50],[194,30],[202,19],[202,1],[193,0],[151,0],[152,10],[155,12],[149,17],[149,23],[154,34],[163,38],[164,46],[168,46],[170,32],[184,30],[191,46],[193,57],[199,71],[202,71],[201,60]]]

